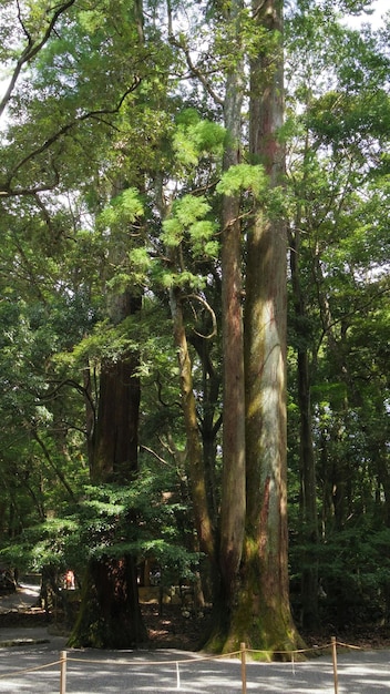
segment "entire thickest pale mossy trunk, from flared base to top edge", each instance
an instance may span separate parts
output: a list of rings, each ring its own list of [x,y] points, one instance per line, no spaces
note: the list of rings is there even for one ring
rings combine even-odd
[[[269,44],[252,64],[250,152],[283,184],[283,2],[254,7]],[[289,606],[286,493],[287,238],[280,214],[260,204],[248,232],[245,305],[247,521],[242,583],[226,647],[239,641],[276,651],[296,647]],[[288,657],[283,655],[281,657]]]

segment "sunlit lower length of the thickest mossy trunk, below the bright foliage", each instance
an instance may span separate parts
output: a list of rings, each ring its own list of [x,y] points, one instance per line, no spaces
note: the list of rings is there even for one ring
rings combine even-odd
[[[295,647],[288,593],[286,492],[286,239],[261,214],[248,242],[246,329],[247,534],[239,619],[255,647]],[[244,606],[246,605],[246,606]],[[249,609],[250,605],[250,609]]]

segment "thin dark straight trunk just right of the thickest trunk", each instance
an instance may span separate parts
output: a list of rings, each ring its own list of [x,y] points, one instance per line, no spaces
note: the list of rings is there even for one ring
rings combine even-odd
[[[300,457],[300,514],[301,537],[307,550],[301,569],[301,622],[305,627],[318,626],[318,547],[316,458],[312,441],[310,369],[308,355],[307,312],[299,276],[300,220],[296,229],[289,232],[292,304],[296,317],[298,405],[299,405],[299,457]],[[314,550],[314,551],[312,551]]]

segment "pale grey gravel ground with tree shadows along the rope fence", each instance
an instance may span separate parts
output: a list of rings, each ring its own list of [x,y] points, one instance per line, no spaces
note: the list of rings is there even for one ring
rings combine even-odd
[[[24,589],[23,589],[24,590]],[[13,596],[33,604],[33,589]],[[1,598],[1,608],[6,608]],[[11,603],[11,599],[10,599]],[[14,608],[13,608],[14,609]],[[65,639],[45,626],[0,630],[0,692],[60,692],[60,653]],[[204,659],[185,651],[68,651],[66,694],[185,692],[240,694],[238,659]],[[332,662],[324,655],[305,663],[247,663],[248,694],[335,694]],[[390,693],[390,652],[343,651],[338,654],[338,694]]]

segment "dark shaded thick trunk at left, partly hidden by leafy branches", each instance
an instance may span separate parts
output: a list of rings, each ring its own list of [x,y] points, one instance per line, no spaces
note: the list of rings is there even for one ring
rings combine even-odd
[[[125,293],[114,302],[115,322],[141,309],[141,297]],[[104,361],[93,445],[91,480],[129,484],[137,471],[140,379],[136,353]],[[129,518],[129,523],[133,519]],[[138,594],[136,561],[103,555],[90,560],[83,581],[80,613],[69,640],[71,646],[130,649],[146,642]]]

